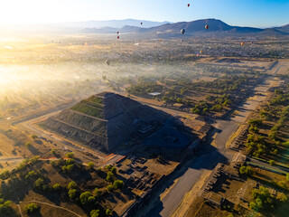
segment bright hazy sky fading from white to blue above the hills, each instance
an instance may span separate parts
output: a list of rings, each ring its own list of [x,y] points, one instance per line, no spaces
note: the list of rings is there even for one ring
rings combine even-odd
[[[217,18],[243,26],[283,25],[289,24],[289,0],[0,0],[0,23],[126,18],[171,22]]]

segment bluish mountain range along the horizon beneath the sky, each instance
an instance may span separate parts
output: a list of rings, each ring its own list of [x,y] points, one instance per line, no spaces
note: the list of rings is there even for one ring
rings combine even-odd
[[[205,29],[205,25],[209,24],[210,28]],[[145,27],[145,26],[144,26]],[[162,24],[150,28],[144,28],[143,26],[137,25],[126,25],[119,29],[121,33],[150,33],[158,36],[175,36],[180,35],[180,31],[185,29],[186,35],[191,34],[267,34],[267,35],[284,35],[289,33],[289,25],[284,25],[276,28],[260,29],[252,27],[240,27],[231,26],[220,20],[216,19],[204,19],[191,22],[179,22],[175,24]],[[89,29],[86,33],[109,33],[105,28],[102,29]],[[115,31],[116,32],[116,31]]]

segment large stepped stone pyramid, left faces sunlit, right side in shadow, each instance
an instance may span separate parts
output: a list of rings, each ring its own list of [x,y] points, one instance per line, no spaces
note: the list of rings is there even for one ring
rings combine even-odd
[[[39,125],[51,132],[78,141],[102,152],[111,152],[135,133],[145,133],[169,117],[112,92],[84,99],[70,109],[43,120]]]

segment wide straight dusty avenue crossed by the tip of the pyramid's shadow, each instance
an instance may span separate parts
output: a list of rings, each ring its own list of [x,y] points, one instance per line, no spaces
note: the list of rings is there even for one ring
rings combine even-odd
[[[277,69],[278,71],[278,69]],[[264,86],[264,83],[260,83],[259,86]],[[244,104],[250,104],[251,101],[247,100]],[[258,104],[259,102],[256,102]],[[240,105],[241,108],[244,104]],[[237,109],[238,110],[238,109]],[[214,139],[214,146],[204,146],[203,149],[210,149],[210,153],[198,157],[196,160],[192,161],[190,164],[186,165],[184,173],[182,175],[177,175],[174,178],[179,178],[177,183],[172,187],[172,190],[166,194],[162,201],[160,201],[159,195],[163,193],[165,187],[170,187],[173,183],[168,182],[167,186],[159,189],[157,193],[154,194],[154,199],[150,203],[145,205],[144,209],[140,210],[135,216],[144,217],[169,217],[172,212],[178,207],[182,202],[182,198],[185,193],[189,192],[194,184],[200,179],[203,174],[204,169],[213,169],[215,165],[219,162],[225,163],[232,160],[235,154],[231,154],[230,151],[226,149],[226,143],[228,138],[238,129],[239,124],[246,121],[246,118],[250,112],[246,112],[238,122],[235,120],[218,120],[214,125],[218,130],[218,134]],[[208,152],[208,150],[207,150]]]

